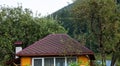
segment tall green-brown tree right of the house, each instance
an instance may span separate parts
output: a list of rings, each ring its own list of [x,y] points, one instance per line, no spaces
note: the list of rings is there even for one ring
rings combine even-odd
[[[86,26],[85,39],[98,44],[103,64],[106,61],[106,52],[112,52],[114,60],[119,57],[120,13],[114,0],[76,0],[72,15],[80,26]]]

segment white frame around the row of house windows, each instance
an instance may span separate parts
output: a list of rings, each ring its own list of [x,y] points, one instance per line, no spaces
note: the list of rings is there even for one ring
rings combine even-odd
[[[77,62],[77,57],[73,56],[75,59],[76,59],[76,62]],[[44,58],[53,58],[53,61],[54,61],[54,66],[56,66],[56,58],[65,58],[65,66],[67,66],[67,58],[70,58],[69,56],[68,57],[33,57],[32,58],[32,66],[34,66],[34,59],[41,59],[42,60],[42,66],[44,66]]]

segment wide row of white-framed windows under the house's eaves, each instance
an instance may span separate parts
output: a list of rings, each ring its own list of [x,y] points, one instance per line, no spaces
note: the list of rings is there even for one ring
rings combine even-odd
[[[76,57],[33,58],[32,66],[69,66],[71,62],[76,62]]]

